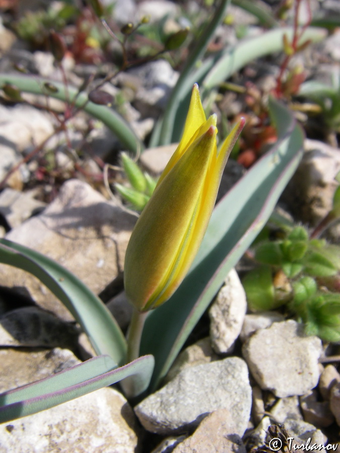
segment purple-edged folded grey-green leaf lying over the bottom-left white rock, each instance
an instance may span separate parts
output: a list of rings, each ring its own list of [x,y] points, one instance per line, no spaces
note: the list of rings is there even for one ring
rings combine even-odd
[[[150,355],[120,368],[116,368],[115,362],[107,355],[95,357],[41,381],[1,394],[0,423],[49,409],[132,375],[139,378],[140,394],[148,387],[153,368],[154,358]]]

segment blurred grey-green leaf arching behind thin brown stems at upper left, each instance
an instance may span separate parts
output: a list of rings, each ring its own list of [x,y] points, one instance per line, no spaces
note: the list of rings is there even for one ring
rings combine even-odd
[[[0,73],[0,88],[4,84],[12,84],[21,92],[46,95],[64,102],[74,102],[75,107],[82,108],[94,118],[101,120],[131,152],[140,153],[144,149],[143,142],[135,135],[131,127],[117,112],[104,105],[94,104],[89,101],[87,94],[84,92],[77,96],[78,90],[73,87],[69,86],[66,90],[61,83],[51,83],[48,79],[33,77],[32,75]],[[46,88],[46,86],[51,84],[56,91]]]

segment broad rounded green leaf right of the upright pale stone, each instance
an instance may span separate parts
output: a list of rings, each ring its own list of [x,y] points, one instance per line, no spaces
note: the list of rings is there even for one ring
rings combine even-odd
[[[251,311],[273,310],[274,285],[269,266],[260,266],[248,272],[242,280]]]

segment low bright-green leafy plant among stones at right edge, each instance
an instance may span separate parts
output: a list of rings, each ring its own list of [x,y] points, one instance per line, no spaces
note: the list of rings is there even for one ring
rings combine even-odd
[[[340,340],[340,293],[332,292],[340,278],[339,246],[295,226],[283,239],[257,244],[253,259],[259,265],[243,278],[250,310],[285,306],[307,333]]]

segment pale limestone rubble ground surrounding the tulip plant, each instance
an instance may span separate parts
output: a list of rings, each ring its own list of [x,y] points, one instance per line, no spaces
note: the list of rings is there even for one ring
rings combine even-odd
[[[17,10],[11,10],[10,3],[0,1],[4,23],[0,27],[0,71],[11,72],[13,63],[24,63],[34,74],[60,80],[62,74],[51,53],[32,48],[8,26],[11,17],[23,16],[39,5],[13,2]],[[166,15],[174,20],[179,14],[179,5],[167,0],[117,4],[118,24],[135,14],[150,14],[152,20]],[[269,11],[276,6],[276,2],[266,4]],[[339,14],[338,2],[312,2],[314,9],[321,6]],[[234,25],[221,27],[216,43],[221,36],[235,42],[235,30],[242,27],[259,29],[251,15],[235,6],[231,15]],[[339,77],[339,25],[322,42],[295,56],[312,80],[329,80],[331,74]],[[70,83],[80,86],[95,70],[99,57],[96,54],[84,61],[67,54],[64,65]],[[251,82],[261,94],[268,93],[280,61],[280,55],[254,61],[233,76],[233,83],[245,86]],[[117,103],[120,113],[146,143],[179,77],[180,65],[181,61],[171,65],[168,59],[159,58],[105,84],[106,91],[121,100]],[[65,108],[60,101],[50,100],[47,108],[38,108],[36,104],[42,101],[33,95],[26,95],[25,103],[3,99],[2,236],[74,272],[100,295],[125,332],[131,308],[123,291],[124,254],[138,216],[118,196],[109,194],[102,176],[104,163],[117,165],[121,144],[84,112],[71,119],[66,133],[54,133],[55,118]],[[228,118],[249,110],[244,93],[232,91],[224,93],[216,107],[219,115],[223,111]],[[53,116],[51,110],[57,113]],[[315,127],[319,120],[305,113],[297,116],[307,134],[305,155],[280,205],[295,221],[313,228],[329,211],[336,187],[338,130]],[[172,151],[173,146],[148,149],[141,164],[159,175]],[[228,164],[219,196],[246,171],[242,164],[242,160]],[[122,178],[115,170],[109,182]],[[338,227],[331,230],[330,238],[339,242]],[[1,265],[0,285],[0,392],[93,355],[71,314],[33,276]],[[0,453],[243,453],[258,447],[271,451],[264,444],[270,439],[267,433],[273,434],[273,424],[284,427],[277,426],[281,431],[271,437],[294,437],[298,445],[310,439],[310,444],[332,445],[340,452],[340,445],[336,446],[340,442],[338,345],[306,336],[301,324],[282,313],[249,313],[235,270],[226,276],[191,343],[176,359],[163,387],[134,408],[118,387],[98,390],[0,425]]]

